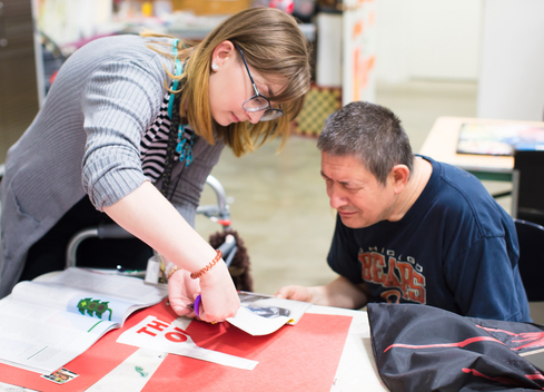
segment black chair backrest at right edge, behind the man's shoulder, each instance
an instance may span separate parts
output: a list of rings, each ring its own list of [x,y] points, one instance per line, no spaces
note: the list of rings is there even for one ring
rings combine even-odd
[[[544,150],[515,150],[514,169],[518,171],[516,218],[544,226]]]

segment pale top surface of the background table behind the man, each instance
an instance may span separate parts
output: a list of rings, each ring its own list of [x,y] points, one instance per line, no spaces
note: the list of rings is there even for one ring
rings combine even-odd
[[[438,117],[419,154],[468,170],[511,171],[514,158],[508,156],[457,154],[457,139],[464,122],[521,124],[544,127],[541,121],[498,120],[472,117]]]

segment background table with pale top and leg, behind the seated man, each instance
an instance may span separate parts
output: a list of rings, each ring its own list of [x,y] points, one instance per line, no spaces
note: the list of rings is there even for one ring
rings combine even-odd
[[[419,154],[457,166],[483,180],[512,182],[512,217],[517,216],[517,186],[520,173],[514,169],[514,157],[457,154],[457,140],[464,122],[520,124],[544,127],[541,121],[483,119],[472,117],[438,117],[425,139]]]

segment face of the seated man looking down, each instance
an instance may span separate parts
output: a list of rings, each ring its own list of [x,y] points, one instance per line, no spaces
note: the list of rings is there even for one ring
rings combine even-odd
[[[368,227],[387,220],[394,212],[396,193],[393,176],[378,183],[360,159],[322,153],[322,176],[327,185],[330,207],[350,228]]]

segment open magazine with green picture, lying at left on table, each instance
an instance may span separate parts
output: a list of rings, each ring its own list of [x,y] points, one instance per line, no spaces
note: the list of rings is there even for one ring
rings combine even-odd
[[[166,285],[75,267],[20,282],[0,300],[0,362],[51,373],[167,295]]]

